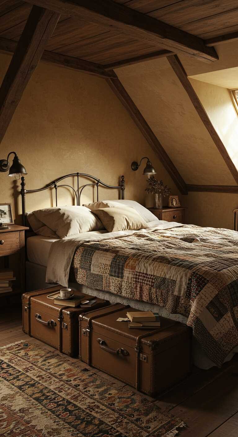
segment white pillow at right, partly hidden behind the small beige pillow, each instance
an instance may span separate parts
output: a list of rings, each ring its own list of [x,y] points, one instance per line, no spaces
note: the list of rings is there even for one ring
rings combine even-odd
[[[145,208],[135,200],[125,200],[125,199],[102,200],[99,202],[89,203],[83,206],[86,206],[87,208],[91,209],[91,211],[93,211],[94,209],[99,209],[99,208],[112,208],[114,206],[122,207],[122,205],[131,206],[132,208],[134,208],[138,212],[138,214],[140,214],[141,217],[144,218],[145,222],[147,223],[152,222],[153,220],[158,220],[158,218],[154,214],[152,214],[152,212],[150,212],[147,208]]]

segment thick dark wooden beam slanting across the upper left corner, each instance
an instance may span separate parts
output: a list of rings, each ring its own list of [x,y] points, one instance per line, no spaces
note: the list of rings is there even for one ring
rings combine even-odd
[[[0,87],[0,142],[60,14],[33,6]]]

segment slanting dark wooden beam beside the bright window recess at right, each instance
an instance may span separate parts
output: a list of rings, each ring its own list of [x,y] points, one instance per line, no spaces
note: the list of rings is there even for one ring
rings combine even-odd
[[[217,134],[217,131],[215,130],[214,126],[212,125],[210,118],[207,115],[207,112],[205,111],[203,105],[201,104],[199,98],[197,97],[196,92],[194,91],[187,75],[186,71],[183,68],[181,62],[179,61],[179,58],[177,55],[169,56],[168,61],[173,69],[173,71],[176,73],[179,81],[183,85],[183,88],[185,89],[186,93],[188,94],[194,108],[197,111],[197,114],[199,115],[200,119],[202,120],[205,128],[207,128],[207,131],[209,132],[211,138],[213,139],[215,145],[217,146],[217,149],[221,153],[221,156],[223,157],[226,165],[228,166],[232,176],[234,177],[236,183],[238,184],[238,170],[235,167],[235,164],[231,160],[231,157],[228,154],[227,149],[225,148],[223,142],[221,141],[221,138]]]

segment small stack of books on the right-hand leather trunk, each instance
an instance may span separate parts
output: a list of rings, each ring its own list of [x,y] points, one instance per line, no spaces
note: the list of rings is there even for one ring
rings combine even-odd
[[[158,312],[136,311],[127,312],[129,319],[129,328],[139,329],[157,329],[160,327],[160,318]]]

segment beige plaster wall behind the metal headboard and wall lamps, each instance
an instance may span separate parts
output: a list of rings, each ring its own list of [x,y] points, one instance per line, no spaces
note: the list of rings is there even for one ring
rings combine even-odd
[[[0,55],[0,80],[9,62],[9,55]],[[144,204],[151,199],[146,197],[143,168],[133,172],[131,162],[149,156],[159,177],[173,194],[178,192],[106,81],[70,69],[39,64],[0,145],[0,158],[6,158],[11,150],[17,152],[28,171],[28,189],[43,187],[77,171],[95,175],[111,185],[117,185],[124,174],[125,197]],[[0,173],[0,186],[0,202],[11,201],[16,222],[21,223],[20,182]],[[101,199],[118,198],[118,194],[117,190],[100,189]],[[89,187],[82,203],[92,198]],[[48,191],[28,194],[26,201],[28,211],[53,205]],[[59,204],[71,202],[68,189],[59,188]]]

